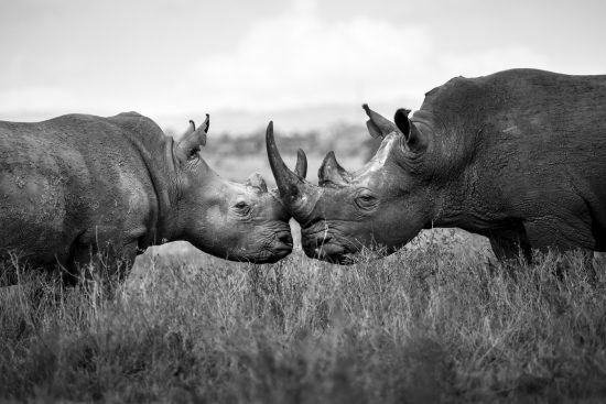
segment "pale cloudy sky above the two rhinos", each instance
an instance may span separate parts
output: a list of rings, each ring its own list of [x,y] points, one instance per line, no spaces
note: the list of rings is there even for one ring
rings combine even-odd
[[[604,4],[0,0],[0,120],[136,110],[171,127],[210,112],[241,130],[283,110],[419,108],[458,75],[606,74]]]

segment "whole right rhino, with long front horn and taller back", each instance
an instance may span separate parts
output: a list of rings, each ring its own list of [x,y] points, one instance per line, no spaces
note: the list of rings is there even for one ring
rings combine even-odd
[[[531,249],[606,251],[606,76],[512,69],[457,77],[396,124],[371,111],[375,157],[348,173],[329,153],[320,186],[268,154],[307,255],[349,263],[390,253],[421,229],[489,238],[497,258]]]

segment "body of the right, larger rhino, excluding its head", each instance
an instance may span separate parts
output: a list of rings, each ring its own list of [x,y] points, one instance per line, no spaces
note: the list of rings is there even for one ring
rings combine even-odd
[[[518,245],[527,258],[530,248],[606,251],[606,76],[454,78],[412,124],[443,155],[435,226],[487,236],[500,258]]]

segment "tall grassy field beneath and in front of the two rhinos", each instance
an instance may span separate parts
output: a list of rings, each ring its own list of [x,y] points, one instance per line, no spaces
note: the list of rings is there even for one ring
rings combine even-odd
[[[603,402],[604,273],[588,282],[574,253],[502,266],[448,232],[429,239],[347,267],[301,251],[238,264],[177,244],[140,256],[111,298],[3,291],[0,397]]]

